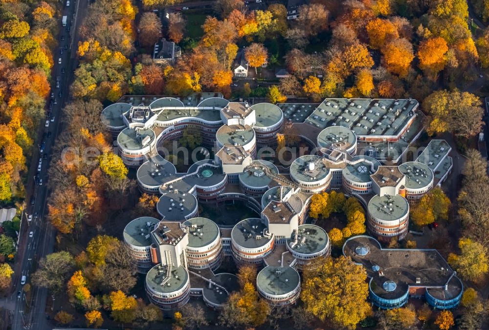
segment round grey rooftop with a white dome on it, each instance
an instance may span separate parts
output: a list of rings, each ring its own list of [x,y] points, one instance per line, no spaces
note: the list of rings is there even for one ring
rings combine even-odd
[[[324,179],[330,169],[323,163],[323,158],[317,155],[305,155],[295,159],[290,165],[290,175],[296,180],[314,182]]]

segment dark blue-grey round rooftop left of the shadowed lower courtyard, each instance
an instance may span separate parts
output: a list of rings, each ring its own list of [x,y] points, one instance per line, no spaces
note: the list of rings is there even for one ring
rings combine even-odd
[[[165,220],[185,221],[197,212],[197,198],[192,194],[168,192],[159,198],[156,210]]]

